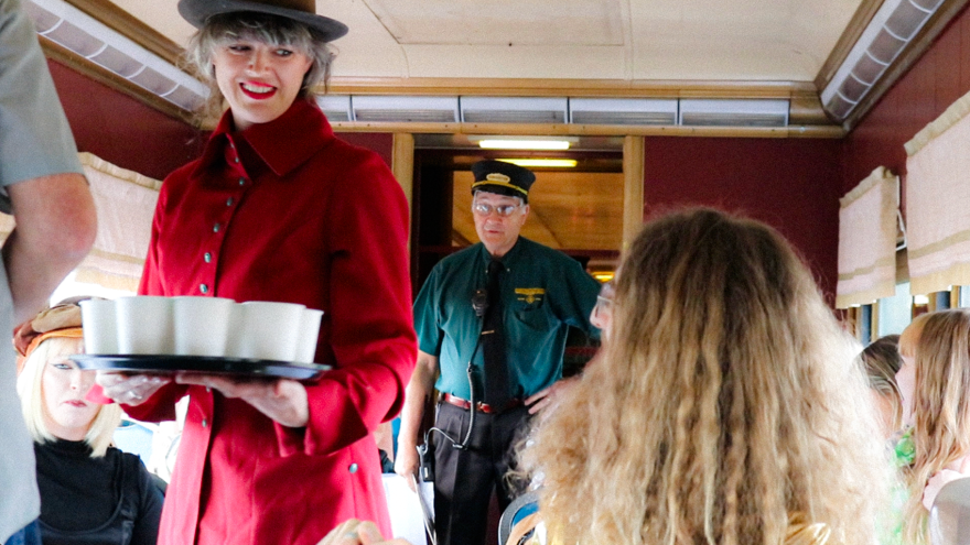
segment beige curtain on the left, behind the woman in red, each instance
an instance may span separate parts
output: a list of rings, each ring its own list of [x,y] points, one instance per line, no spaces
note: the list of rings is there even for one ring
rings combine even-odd
[[[126,171],[90,153],[78,153],[98,211],[98,235],[77,268],[77,282],[136,291],[151,238],[151,222],[162,183]],[[13,229],[0,215],[0,237]]]

